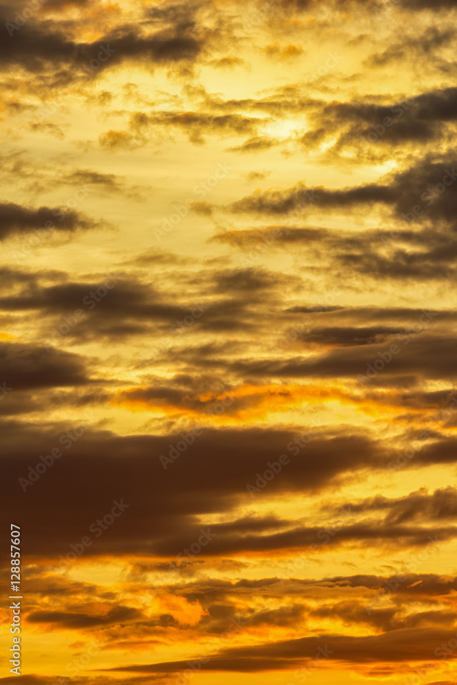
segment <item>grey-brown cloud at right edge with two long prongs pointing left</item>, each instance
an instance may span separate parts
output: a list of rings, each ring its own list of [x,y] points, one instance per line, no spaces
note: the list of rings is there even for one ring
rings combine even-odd
[[[305,188],[257,190],[236,201],[234,212],[285,215],[290,212],[359,211],[368,203],[391,214],[395,227],[349,232],[312,227],[267,227],[216,234],[213,240],[264,252],[297,245],[329,267],[376,279],[429,281],[456,274],[456,167],[445,160],[422,160],[407,171],[389,176],[384,184],[343,190]]]

